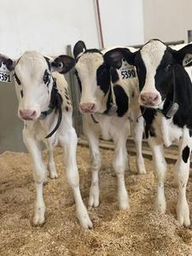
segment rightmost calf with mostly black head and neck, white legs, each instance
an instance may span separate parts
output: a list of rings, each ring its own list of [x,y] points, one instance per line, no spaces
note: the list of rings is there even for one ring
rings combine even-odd
[[[153,151],[154,170],[157,177],[155,206],[166,212],[164,180],[166,160],[163,144],[179,145],[175,174],[178,183],[177,220],[189,226],[189,205],[186,186],[189,178],[192,148],[192,44],[174,49],[158,39],[150,40],[142,49],[131,53],[128,49],[108,52],[108,62],[119,67],[122,58],[137,67],[146,135]]]

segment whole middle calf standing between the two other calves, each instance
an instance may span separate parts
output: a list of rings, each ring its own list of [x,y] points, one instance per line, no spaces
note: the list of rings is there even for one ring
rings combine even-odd
[[[105,51],[86,49],[82,41],[75,44],[73,49],[81,89],[79,109],[83,113],[84,135],[89,141],[92,157],[89,205],[99,205],[98,172],[102,165],[99,137],[102,134],[103,139],[113,139],[115,144],[113,168],[118,178],[119,208],[125,210],[129,208],[124,177],[125,168],[128,167],[128,116],[131,115],[134,120],[138,173],[145,173],[142,155],[143,118],[137,122],[140,115],[137,100],[139,90],[134,67],[123,67],[121,72],[124,79],[121,79],[119,72],[105,61]]]

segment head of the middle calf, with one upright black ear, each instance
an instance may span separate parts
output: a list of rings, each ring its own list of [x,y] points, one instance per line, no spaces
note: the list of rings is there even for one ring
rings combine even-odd
[[[103,108],[104,96],[108,94],[112,70],[104,61],[102,52],[98,49],[86,49],[83,41],[75,44],[73,55],[81,90],[79,110],[82,113],[99,112]]]

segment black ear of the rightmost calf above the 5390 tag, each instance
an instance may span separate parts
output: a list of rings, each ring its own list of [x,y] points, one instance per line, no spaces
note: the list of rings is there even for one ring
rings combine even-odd
[[[120,68],[122,65],[122,60],[125,59],[129,64],[135,64],[135,53],[131,53],[129,49],[126,48],[115,48],[109,50],[104,55],[104,60],[111,67]]]

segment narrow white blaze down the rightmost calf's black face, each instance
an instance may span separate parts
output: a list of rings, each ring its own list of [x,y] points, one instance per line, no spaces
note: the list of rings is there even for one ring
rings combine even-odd
[[[143,95],[156,95],[158,96],[157,105],[161,102],[160,92],[155,88],[155,74],[157,68],[160,66],[160,61],[162,61],[163,55],[165,54],[166,45],[162,44],[158,40],[152,40],[148,44],[143,46],[141,49],[141,56],[146,67],[146,78],[143,90],[140,93],[139,103],[143,105],[141,96]]]

